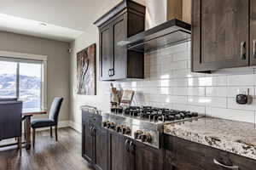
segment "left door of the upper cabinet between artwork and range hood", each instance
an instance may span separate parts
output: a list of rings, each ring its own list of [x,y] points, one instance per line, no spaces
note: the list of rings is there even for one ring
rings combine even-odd
[[[113,39],[112,27],[104,26],[100,29],[100,77],[101,80],[111,80],[110,70],[113,68]]]

